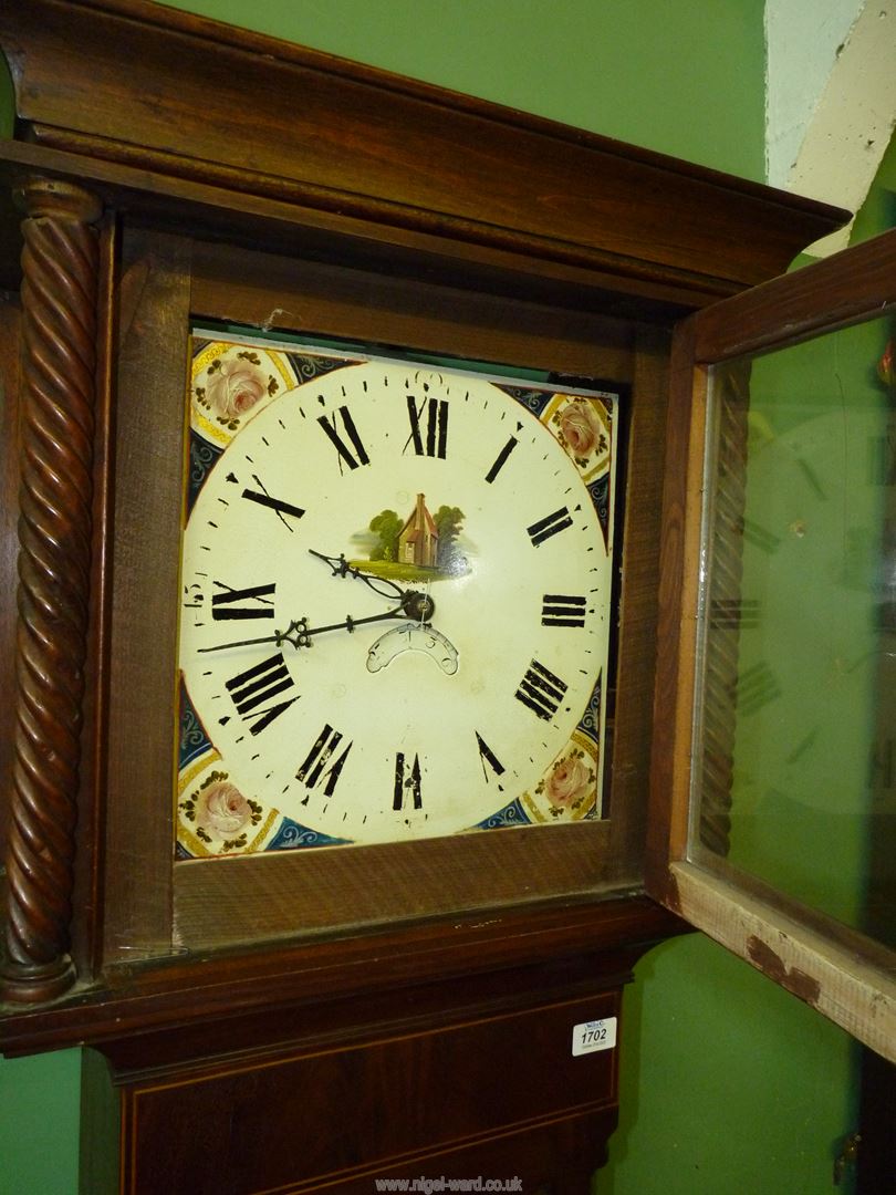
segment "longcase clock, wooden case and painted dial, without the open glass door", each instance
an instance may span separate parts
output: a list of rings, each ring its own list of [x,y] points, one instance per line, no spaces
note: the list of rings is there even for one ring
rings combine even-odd
[[[0,43],[2,1048],[91,1047],[90,1190],[587,1190],[692,915],[687,338],[845,214],[139,0]]]

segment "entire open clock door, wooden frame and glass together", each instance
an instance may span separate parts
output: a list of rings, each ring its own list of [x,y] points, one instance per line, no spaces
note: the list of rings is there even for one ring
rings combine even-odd
[[[664,903],[890,1058],[895,300],[890,234],[680,330],[650,859]]]

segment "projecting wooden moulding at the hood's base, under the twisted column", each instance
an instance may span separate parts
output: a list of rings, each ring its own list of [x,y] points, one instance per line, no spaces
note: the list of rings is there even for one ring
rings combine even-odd
[[[300,945],[122,964],[106,982],[69,999],[0,1018],[0,1052],[25,1054],[99,1043],[130,1032],[238,1018],[314,1001],[399,988],[425,976],[505,970],[514,966],[616,952],[631,964],[650,945],[687,932],[644,896],[557,902],[501,914],[471,913],[399,930],[340,934]],[[597,962],[595,976],[600,975]]]

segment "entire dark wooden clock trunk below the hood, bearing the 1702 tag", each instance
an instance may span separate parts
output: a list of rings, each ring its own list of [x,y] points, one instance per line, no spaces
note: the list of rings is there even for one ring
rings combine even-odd
[[[517,969],[287,1009],[277,1032],[210,1018],[91,1053],[82,1187],[363,1191],[483,1176],[587,1193],[615,1127],[616,1054],[573,1056],[573,1027],[614,1024],[619,979]]]

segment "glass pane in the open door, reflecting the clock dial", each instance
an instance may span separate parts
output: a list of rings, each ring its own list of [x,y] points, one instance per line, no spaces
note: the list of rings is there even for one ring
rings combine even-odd
[[[896,944],[890,317],[716,367],[694,854]]]

